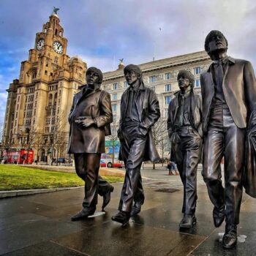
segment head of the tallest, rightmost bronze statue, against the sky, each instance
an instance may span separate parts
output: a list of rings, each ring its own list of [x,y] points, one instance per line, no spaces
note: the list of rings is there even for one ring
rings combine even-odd
[[[212,30],[207,36],[205,41],[205,50],[209,56],[212,53],[227,51],[227,39],[219,30]]]

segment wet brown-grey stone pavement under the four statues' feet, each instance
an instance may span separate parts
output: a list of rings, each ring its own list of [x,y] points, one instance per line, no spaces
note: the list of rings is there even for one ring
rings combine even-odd
[[[179,230],[182,218],[182,184],[168,176],[165,167],[144,165],[146,201],[138,217],[121,227],[116,214],[122,184],[114,184],[106,213],[71,222],[80,211],[83,189],[27,195],[0,200],[0,255],[255,255],[256,200],[244,193],[238,245],[223,249],[225,225],[215,228],[213,206],[198,171],[197,225]],[[99,197],[98,210],[102,205]]]

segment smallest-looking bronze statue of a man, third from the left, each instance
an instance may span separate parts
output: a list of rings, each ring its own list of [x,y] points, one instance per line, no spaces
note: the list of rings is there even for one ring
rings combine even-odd
[[[179,226],[189,228],[195,225],[197,202],[197,164],[202,146],[202,99],[195,94],[195,78],[191,72],[178,72],[180,91],[170,102],[167,118],[171,150],[184,186],[182,213]]]

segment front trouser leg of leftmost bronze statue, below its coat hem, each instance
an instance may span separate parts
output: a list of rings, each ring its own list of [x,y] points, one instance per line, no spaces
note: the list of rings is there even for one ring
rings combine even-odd
[[[75,170],[80,178],[86,181],[83,208],[93,208],[97,205],[98,173],[100,154],[74,154]]]

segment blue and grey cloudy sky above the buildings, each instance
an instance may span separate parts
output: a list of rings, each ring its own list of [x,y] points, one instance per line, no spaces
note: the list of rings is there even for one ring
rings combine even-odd
[[[256,68],[255,0],[0,0],[0,125],[7,92],[28,59],[36,33],[58,7],[67,54],[103,72],[204,50],[209,31],[228,41],[228,55]]]

